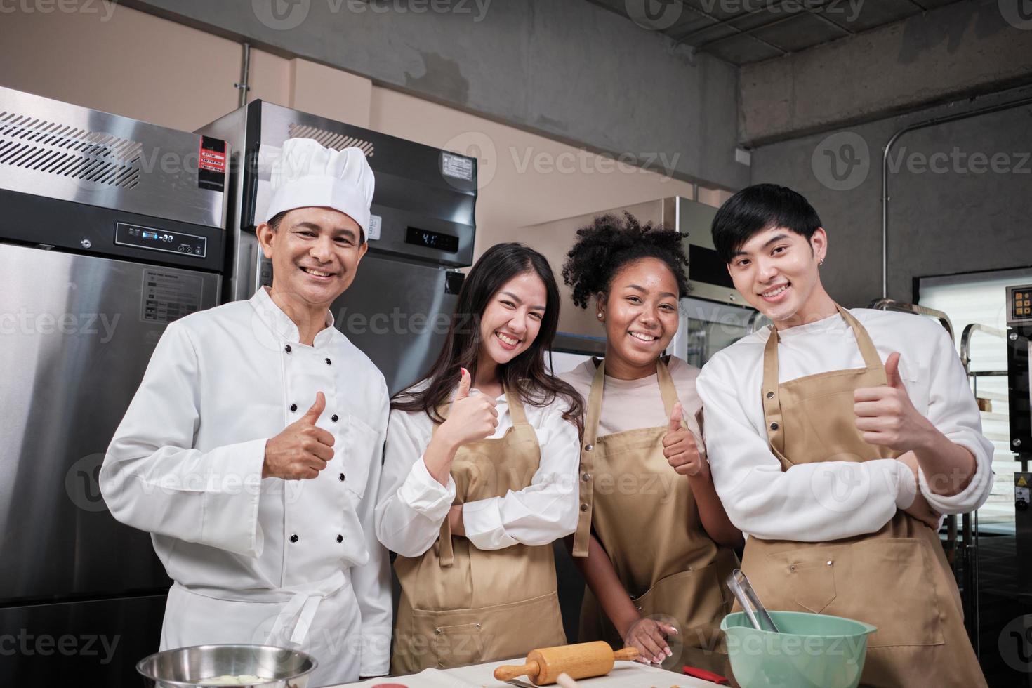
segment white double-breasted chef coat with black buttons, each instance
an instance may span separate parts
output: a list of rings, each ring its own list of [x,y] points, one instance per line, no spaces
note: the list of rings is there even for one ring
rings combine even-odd
[[[373,524],[387,387],[329,313],[326,324],[300,343],[264,289],[171,323],[100,472],[111,514],[152,533],[175,581],[164,643],[261,643],[276,625],[323,648],[316,685],[387,674],[391,632]],[[262,480],[266,440],[317,392],[333,458],[314,480]]]

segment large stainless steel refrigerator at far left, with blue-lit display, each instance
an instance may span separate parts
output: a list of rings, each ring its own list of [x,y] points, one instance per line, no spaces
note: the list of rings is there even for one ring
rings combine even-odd
[[[215,305],[225,143],[0,88],[0,685],[137,685],[169,580],[97,474],[165,326]]]

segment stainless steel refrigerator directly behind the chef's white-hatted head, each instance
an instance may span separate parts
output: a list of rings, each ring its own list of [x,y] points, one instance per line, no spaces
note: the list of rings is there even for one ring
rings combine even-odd
[[[270,285],[255,235],[271,196],[271,163],[290,138],[357,146],[376,173],[369,251],[332,305],[336,326],[387,379],[391,394],[417,382],[441,351],[462,274],[473,262],[477,160],[255,100],[199,133],[228,141],[232,191],[227,299]]]

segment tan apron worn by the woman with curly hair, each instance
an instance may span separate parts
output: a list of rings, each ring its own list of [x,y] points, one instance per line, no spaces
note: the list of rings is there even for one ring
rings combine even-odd
[[[706,534],[688,479],[663,455],[668,423],[595,436],[605,367],[605,361],[599,364],[587,402],[574,556],[587,555],[588,535],[593,532],[642,617],[666,615],[676,622],[679,636],[669,640],[675,647],[676,641],[683,643],[684,654],[670,662],[725,671],[725,656],[712,654],[725,652],[718,628],[732,596],[724,581],[738,559]],[[662,360],[656,378],[669,418],[677,390]],[[588,589],[578,640],[623,646]]]

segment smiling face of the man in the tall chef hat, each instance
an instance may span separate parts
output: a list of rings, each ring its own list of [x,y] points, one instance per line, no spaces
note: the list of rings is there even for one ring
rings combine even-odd
[[[294,208],[278,229],[262,223],[257,233],[272,261],[272,290],[313,308],[329,307],[351,286],[368,249],[358,223],[327,207]]]

